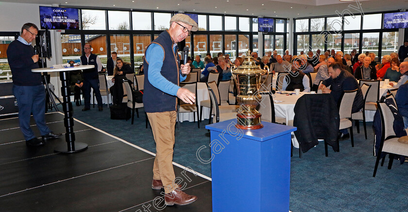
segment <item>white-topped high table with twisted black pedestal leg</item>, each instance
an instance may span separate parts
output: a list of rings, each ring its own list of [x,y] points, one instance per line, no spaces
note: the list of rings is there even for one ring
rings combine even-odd
[[[63,96],[64,102],[62,103],[62,108],[64,110],[64,126],[66,129],[65,139],[67,141],[67,146],[64,144],[58,145],[55,147],[54,151],[62,152],[62,153],[72,153],[77,151],[83,151],[88,148],[86,143],[76,142],[75,143],[75,133],[73,130],[74,126],[74,119],[72,118],[72,103],[69,97],[70,88],[69,88],[69,71],[74,70],[85,70],[95,68],[94,65],[79,65],[74,67],[68,68],[37,68],[32,69],[32,72],[35,73],[42,73],[42,72],[60,72],[60,80],[61,80],[61,94]]]

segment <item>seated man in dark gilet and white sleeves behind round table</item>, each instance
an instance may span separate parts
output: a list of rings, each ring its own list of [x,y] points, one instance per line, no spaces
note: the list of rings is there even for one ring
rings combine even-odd
[[[294,91],[295,89],[300,89],[300,91],[310,92],[309,77],[307,77],[305,73],[299,71],[300,65],[300,60],[293,61],[292,70],[289,72],[289,75],[285,76],[285,79],[283,80],[283,91]]]

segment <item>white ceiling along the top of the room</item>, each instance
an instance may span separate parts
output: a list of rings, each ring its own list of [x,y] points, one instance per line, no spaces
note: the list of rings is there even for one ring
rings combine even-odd
[[[336,15],[348,9],[354,15],[360,12],[348,5],[361,4],[364,13],[408,9],[408,0],[0,0],[16,3],[60,4],[63,7],[86,6],[103,8],[133,8],[148,10],[186,11],[230,15],[272,17],[309,17]],[[132,2],[134,1],[134,2]],[[68,3],[66,3],[68,2]],[[113,6],[115,4],[115,6]],[[179,5],[178,5],[179,4]],[[292,8],[291,8],[292,7]],[[157,9],[158,8],[158,9]],[[298,15],[299,14],[299,15]]]

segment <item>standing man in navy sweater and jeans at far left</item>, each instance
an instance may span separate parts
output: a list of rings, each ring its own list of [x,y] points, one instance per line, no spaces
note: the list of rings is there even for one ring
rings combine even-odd
[[[31,72],[32,69],[38,68],[38,55],[34,55],[34,48],[31,45],[37,32],[35,24],[24,24],[21,36],[7,48],[7,60],[13,75],[13,95],[18,104],[18,121],[27,146],[42,146],[45,140],[62,136],[61,133],[51,132],[45,123],[45,89],[41,74]],[[31,113],[42,140],[34,136],[30,127]]]

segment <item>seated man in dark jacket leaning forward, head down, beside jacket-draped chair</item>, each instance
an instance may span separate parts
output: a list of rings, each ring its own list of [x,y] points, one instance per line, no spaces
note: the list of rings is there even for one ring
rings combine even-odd
[[[330,78],[323,81],[319,86],[323,93],[330,93],[334,100],[339,104],[340,97],[344,91],[353,91],[357,90],[356,97],[353,101],[353,106],[351,109],[352,113],[358,112],[364,105],[363,93],[361,92],[360,86],[357,83],[354,76],[345,71],[341,62],[335,62],[329,65],[328,72]],[[330,89],[327,87],[331,86]],[[347,139],[350,135],[347,132],[347,129],[340,130],[339,139]]]

